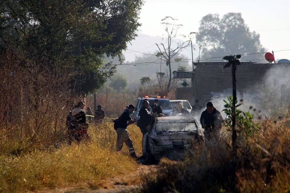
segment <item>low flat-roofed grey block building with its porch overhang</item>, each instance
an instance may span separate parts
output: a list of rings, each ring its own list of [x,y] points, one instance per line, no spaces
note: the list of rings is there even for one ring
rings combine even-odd
[[[214,93],[231,95],[231,68],[224,68],[225,64],[225,62],[199,62],[194,63],[195,68],[192,72],[174,71],[174,78],[191,78],[192,82],[192,87],[176,89],[176,99],[188,100],[191,104],[195,99],[198,99],[200,104],[203,105],[212,99]],[[279,71],[273,72],[272,74],[276,74],[271,77],[271,80],[267,81],[273,70]],[[258,64],[241,62],[236,71],[237,92],[259,95],[261,85],[267,84],[267,82],[272,86],[278,85],[281,78],[284,81],[282,84],[290,85],[289,77],[290,63]]]

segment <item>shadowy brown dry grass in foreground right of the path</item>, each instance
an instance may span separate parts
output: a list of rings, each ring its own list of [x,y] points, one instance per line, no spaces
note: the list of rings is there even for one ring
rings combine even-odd
[[[290,119],[261,121],[260,131],[240,140],[238,165],[231,164],[230,136],[194,145],[183,162],[161,160],[143,176],[140,192],[289,192]]]

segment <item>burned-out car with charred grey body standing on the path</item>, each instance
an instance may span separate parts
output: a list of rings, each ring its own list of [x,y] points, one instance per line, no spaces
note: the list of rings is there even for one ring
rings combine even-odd
[[[193,140],[204,142],[204,136],[195,118],[158,117],[151,124],[150,131],[144,135],[143,155],[151,161],[161,157],[182,160]]]

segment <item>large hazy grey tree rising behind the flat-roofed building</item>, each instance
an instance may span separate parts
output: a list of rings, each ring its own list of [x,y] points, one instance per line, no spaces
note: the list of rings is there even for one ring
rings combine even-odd
[[[196,41],[201,45],[202,58],[208,60],[224,55],[265,52],[259,37],[255,31],[250,32],[241,13],[227,13],[221,19],[218,14],[208,14],[200,21]],[[263,57],[263,54],[244,55],[243,60],[259,60]]]

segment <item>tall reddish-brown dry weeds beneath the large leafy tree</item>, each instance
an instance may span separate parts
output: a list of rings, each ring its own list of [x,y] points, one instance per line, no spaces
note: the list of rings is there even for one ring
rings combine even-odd
[[[35,64],[7,52],[0,62],[0,150],[20,154],[59,143],[65,134],[66,101],[72,100],[66,63]]]

